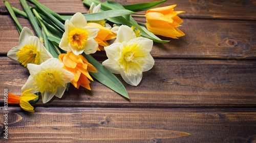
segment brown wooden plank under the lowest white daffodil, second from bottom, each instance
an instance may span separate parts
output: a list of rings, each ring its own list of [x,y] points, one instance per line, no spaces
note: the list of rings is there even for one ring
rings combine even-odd
[[[0,59],[1,86],[12,94],[21,95],[28,70],[6,57]],[[255,73],[256,61],[156,59],[153,69],[143,73],[137,87],[116,75],[130,100],[95,80],[91,83],[92,91],[71,85],[61,99],[54,97],[47,104],[39,99],[35,106],[255,107]],[[2,92],[2,102],[3,98]]]

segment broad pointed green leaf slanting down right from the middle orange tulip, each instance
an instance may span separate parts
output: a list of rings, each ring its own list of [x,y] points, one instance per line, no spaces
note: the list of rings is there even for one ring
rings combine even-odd
[[[93,58],[90,54],[82,53],[84,58],[88,60],[89,63],[91,63],[96,69],[96,72],[90,72],[90,74],[96,78],[99,82],[106,85],[113,91],[119,93],[120,95],[126,97],[129,99],[129,95],[127,91],[125,90],[123,84],[120,82],[120,80],[108,69],[106,69],[104,66],[102,66],[97,60]]]

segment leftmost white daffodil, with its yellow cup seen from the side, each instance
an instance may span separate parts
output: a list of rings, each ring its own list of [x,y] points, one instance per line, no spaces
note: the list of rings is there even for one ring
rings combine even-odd
[[[22,63],[24,67],[27,67],[29,63],[39,65],[53,58],[28,27],[23,28],[19,36],[18,46],[13,47],[7,56],[15,62]]]

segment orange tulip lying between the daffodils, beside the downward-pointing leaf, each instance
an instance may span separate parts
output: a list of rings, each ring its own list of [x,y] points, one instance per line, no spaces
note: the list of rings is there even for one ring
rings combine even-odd
[[[90,80],[93,81],[89,72],[97,72],[96,68],[90,64],[84,56],[81,54],[75,55],[73,52],[62,53],[59,55],[59,60],[64,64],[64,69],[73,73],[74,79],[71,83],[75,88],[82,87],[91,90],[89,83]]]

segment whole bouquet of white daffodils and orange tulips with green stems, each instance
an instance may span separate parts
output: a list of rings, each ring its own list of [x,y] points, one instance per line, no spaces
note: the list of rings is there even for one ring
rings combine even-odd
[[[18,45],[7,56],[24,67],[30,76],[22,87],[23,94],[9,94],[8,103],[19,104],[26,111],[34,112],[31,103],[41,95],[42,102],[54,96],[61,98],[69,89],[91,90],[90,83],[96,79],[125,98],[129,98],[123,84],[114,74],[133,86],[142,80],[142,73],[152,69],[155,62],[150,54],[156,35],[178,38],[184,36],[178,26],[183,22],[174,11],[176,5],[154,8],[166,1],[120,5],[98,0],[84,0],[90,7],[87,14],[59,15],[36,0],[20,0],[24,11],[11,7],[4,1],[19,33]],[[136,12],[147,10],[145,15]],[[32,31],[20,25],[16,15],[29,19]],[[146,23],[133,17],[145,17]],[[112,26],[111,26],[112,24]],[[92,53],[105,51],[107,60],[102,64]],[[113,74],[114,73],[114,74]]]

